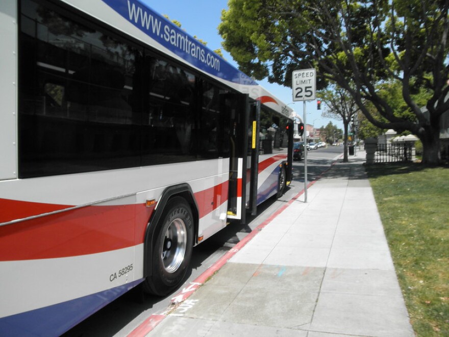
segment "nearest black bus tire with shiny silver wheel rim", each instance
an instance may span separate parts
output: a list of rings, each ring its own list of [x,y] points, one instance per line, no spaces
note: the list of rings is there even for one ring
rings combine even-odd
[[[174,197],[164,207],[153,240],[152,273],[144,281],[147,293],[166,296],[184,281],[193,247],[193,215],[185,199]]]

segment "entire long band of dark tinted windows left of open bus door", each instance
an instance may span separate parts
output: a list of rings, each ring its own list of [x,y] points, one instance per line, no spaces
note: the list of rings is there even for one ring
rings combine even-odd
[[[63,13],[21,2],[20,178],[229,156],[228,89]]]

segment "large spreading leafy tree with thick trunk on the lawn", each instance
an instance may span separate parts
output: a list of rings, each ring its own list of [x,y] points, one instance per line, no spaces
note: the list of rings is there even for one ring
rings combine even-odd
[[[242,71],[290,86],[292,70],[315,67],[319,88],[336,83],[369,122],[409,130],[422,141],[423,162],[438,163],[440,117],[449,110],[448,1],[230,0],[228,6],[218,29]],[[393,80],[412,118],[395,114],[379,94]],[[428,112],[412,97],[422,89],[430,95]]]

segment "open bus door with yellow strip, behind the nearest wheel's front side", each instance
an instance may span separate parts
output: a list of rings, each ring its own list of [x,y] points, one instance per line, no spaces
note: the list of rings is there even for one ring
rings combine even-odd
[[[256,212],[260,104],[241,93],[223,99],[231,117],[228,219],[244,224],[246,210]]]

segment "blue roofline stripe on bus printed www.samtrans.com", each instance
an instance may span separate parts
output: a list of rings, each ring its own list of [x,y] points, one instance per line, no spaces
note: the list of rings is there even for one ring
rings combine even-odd
[[[223,80],[242,85],[257,85],[253,79],[138,0],[103,0],[103,2],[140,31],[191,65]]]

